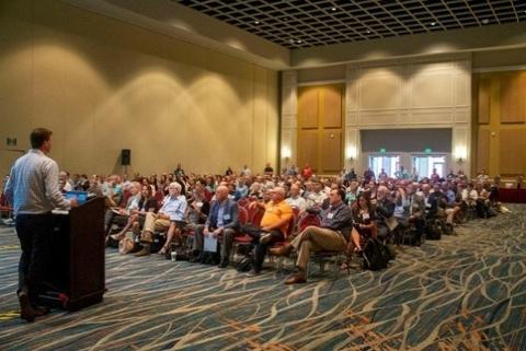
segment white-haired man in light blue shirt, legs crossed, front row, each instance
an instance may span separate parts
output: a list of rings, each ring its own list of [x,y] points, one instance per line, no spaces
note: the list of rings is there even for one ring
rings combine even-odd
[[[155,232],[163,232],[170,229],[171,232],[168,233],[167,236],[173,236],[172,232],[176,230],[176,225],[172,225],[172,223],[183,223],[185,213],[186,198],[181,195],[181,184],[176,182],[170,183],[168,186],[168,195],[164,197],[159,212],[146,213],[145,226],[140,235],[142,249],[135,254],[135,256],[150,255],[150,245],[153,241]]]

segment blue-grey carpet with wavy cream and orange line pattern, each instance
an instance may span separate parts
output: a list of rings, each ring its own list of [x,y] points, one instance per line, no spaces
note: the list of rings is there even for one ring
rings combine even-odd
[[[0,227],[0,350],[526,350],[526,207],[404,247],[380,272],[274,270],[106,250],[104,302],[19,318],[18,239]]]

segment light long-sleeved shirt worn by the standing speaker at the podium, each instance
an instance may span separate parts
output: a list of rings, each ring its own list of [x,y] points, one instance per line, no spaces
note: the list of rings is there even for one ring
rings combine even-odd
[[[58,187],[58,165],[38,149],[30,150],[11,168],[5,195],[14,213],[46,213],[55,208],[69,210]]]

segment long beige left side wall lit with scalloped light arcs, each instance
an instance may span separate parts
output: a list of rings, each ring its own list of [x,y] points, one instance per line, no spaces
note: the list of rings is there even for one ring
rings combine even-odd
[[[0,2],[0,148],[43,126],[75,173],[121,172],[121,149],[128,173],[276,162],[273,70],[53,0]]]

